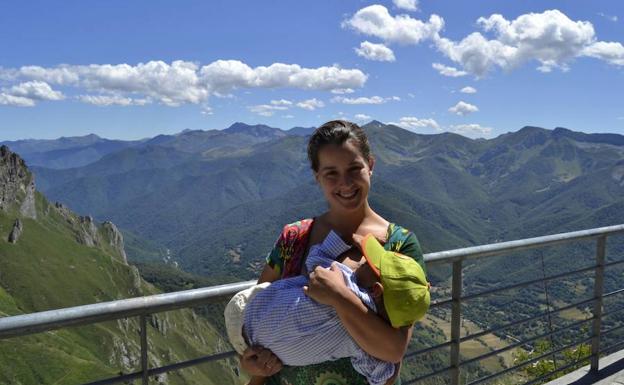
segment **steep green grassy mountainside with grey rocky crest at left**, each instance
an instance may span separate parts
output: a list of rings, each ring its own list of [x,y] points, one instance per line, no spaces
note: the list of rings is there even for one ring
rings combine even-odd
[[[50,203],[6,146],[0,147],[0,198],[1,316],[159,293],[128,264],[114,224]],[[225,343],[218,329],[189,309],[153,314],[148,325],[148,358],[155,365],[196,358]],[[138,329],[133,317],[7,340],[0,345],[0,383],[76,384],[136,371]],[[205,364],[159,381],[235,383],[233,365]]]

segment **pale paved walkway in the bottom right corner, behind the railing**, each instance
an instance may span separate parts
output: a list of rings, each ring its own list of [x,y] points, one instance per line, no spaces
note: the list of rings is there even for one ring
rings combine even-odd
[[[624,385],[624,350],[620,350],[600,359],[598,373],[589,373],[589,365],[546,385]]]

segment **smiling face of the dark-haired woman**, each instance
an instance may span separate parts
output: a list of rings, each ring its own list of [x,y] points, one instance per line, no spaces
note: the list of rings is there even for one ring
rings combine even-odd
[[[331,209],[351,211],[361,208],[368,199],[373,162],[369,163],[352,141],[328,144],[319,152],[315,173]]]

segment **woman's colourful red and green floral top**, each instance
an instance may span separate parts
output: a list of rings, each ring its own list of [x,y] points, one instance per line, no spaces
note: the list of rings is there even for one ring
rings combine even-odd
[[[266,262],[281,278],[301,274],[304,252],[308,246],[314,219],[303,219],[284,226],[269,252]],[[386,250],[414,258],[424,269],[424,259],[418,239],[411,231],[391,223],[388,226]],[[397,379],[395,385],[400,384]],[[348,358],[309,366],[284,366],[269,378],[267,385],[367,385],[366,378],[353,369]]]

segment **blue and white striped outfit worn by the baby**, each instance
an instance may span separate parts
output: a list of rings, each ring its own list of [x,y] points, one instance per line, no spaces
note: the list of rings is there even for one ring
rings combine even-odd
[[[310,272],[316,266],[328,268],[350,246],[330,232],[323,243],[314,245],[306,259]],[[371,310],[370,295],[361,290],[353,271],[338,263],[345,283]],[[395,365],[362,350],[342,325],[333,307],[320,304],[303,293],[309,279],[305,275],[271,283],[245,308],[244,330],[249,345],[270,349],[284,365],[305,366],[351,357],[353,368],[372,385],[384,384],[394,374]]]

